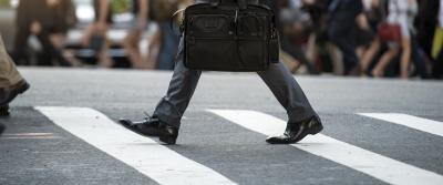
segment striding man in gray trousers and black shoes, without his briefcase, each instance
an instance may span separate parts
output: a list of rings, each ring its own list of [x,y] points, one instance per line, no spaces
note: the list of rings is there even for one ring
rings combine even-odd
[[[210,1],[196,0],[196,3]],[[266,2],[274,3],[270,0]],[[258,1],[248,0],[248,3],[258,3]],[[159,141],[166,144],[176,143],[182,116],[202,74],[202,71],[185,68],[183,42],[182,38],[167,93],[157,104],[153,116],[141,122],[120,120],[123,126],[144,136],[159,137]],[[317,134],[323,129],[301,88],[281,62],[271,63],[269,69],[257,72],[257,74],[286,109],[289,117],[285,133],[280,136],[268,137],[266,142],[270,144],[297,143],[308,134]]]

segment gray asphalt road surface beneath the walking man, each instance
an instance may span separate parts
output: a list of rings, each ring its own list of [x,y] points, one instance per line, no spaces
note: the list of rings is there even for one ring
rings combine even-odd
[[[85,140],[81,133],[79,135],[60,126],[34,109],[87,107],[113,121],[120,117],[143,119],[143,112],[151,113],[165,93],[171,72],[30,68],[20,71],[32,89],[11,104],[11,117],[0,119],[8,126],[0,137],[0,184],[159,184],[159,178],[167,178],[168,175],[174,177],[174,167],[171,174],[162,173],[157,178],[158,174],[150,175],[151,171],[141,169],[153,166],[131,165],[125,162],[131,158],[117,156],[119,151],[99,147],[94,145],[100,143],[99,140]],[[404,167],[404,174],[412,172],[408,167],[413,166],[436,177],[433,179],[443,179],[442,135],[358,114],[408,114],[426,119],[423,124],[435,121],[433,130],[441,132],[442,82],[333,76],[296,79],[323,121],[326,130],[322,134],[367,153],[400,162],[398,167]],[[307,150],[303,150],[305,145],[266,144],[266,134],[207,111],[214,109],[250,110],[282,121],[286,114],[254,73],[206,72],[202,75],[183,120],[178,144],[165,146],[165,150],[212,169],[230,183],[389,184],[402,178],[384,178],[371,172],[371,168],[388,172],[390,167],[371,166],[375,157],[367,158],[368,166],[353,165],[353,157],[363,156],[360,153],[350,153],[349,162],[340,162],[340,155],[332,154],[344,147],[328,147],[330,143],[322,143],[324,140],[318,143],[321,145],[307,144]],[[75,119],[72,120],[75,124]],[[261,122],[258,120],[257,124]],[[115,133],[120,133],[124,129],[116,130]],[[84,133],[96,133],[100,138],[120,141],[120,137],[107,134],[107,127],[85,130]],[[143,143],[137,145],[138,151],[156,152]],[[156,147],[161,144],[151,145]],[[310,148],[319,150],[323,155],[315,155]],[[168,158],[165,160],[167,162]],[[432,182],[425,176],[420,184]],[[439,183],[443,184],[443,181]]]

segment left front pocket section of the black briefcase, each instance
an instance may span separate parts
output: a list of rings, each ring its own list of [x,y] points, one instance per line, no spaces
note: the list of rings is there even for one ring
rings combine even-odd
[[[235,64],[233,21],[234,18],[225,14],[193,17],[185,37],[185,65],[190,69],[226,71],[227,66]]]

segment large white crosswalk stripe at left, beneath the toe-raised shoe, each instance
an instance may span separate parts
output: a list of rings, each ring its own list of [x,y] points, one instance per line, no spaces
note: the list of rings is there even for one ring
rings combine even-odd
[[[159,184],[236,184],[87,107],[35,107],[53,123]]]

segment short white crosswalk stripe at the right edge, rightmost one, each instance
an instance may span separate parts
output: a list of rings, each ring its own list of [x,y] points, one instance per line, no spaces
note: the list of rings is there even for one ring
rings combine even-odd
[[[398,113],[359,113],[359,115],[382,120],[443,136],[443,122]]]

